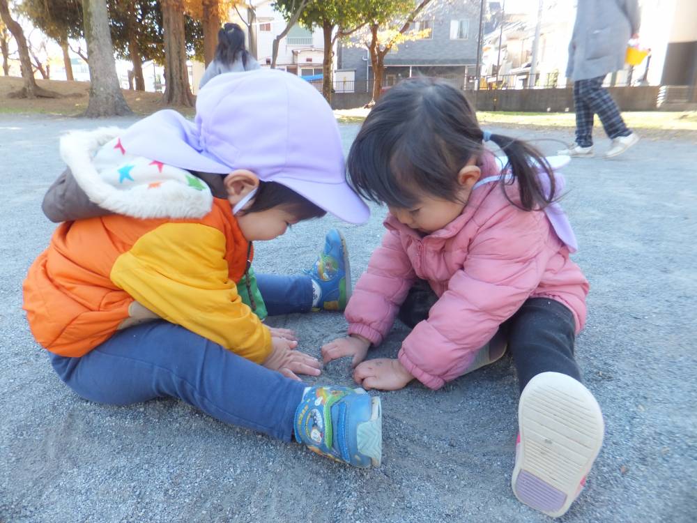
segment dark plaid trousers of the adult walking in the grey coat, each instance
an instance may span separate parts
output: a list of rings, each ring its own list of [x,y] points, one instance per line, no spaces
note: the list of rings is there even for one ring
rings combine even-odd
[[[607,89],[603,87],[604,76],[574,82],[574,105],[576,105],[576,143],[581,147],[593,144],[593,118],[597,113],[608,138],[631,135],[622,120],[617,107]]]

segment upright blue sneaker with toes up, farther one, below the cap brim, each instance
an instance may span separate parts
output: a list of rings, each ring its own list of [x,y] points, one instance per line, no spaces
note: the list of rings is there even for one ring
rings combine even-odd
[[[319,287],[319,300],[313,310],[344,310],[351,298],[351,266],[344,235],[331,229],[324,241],[324,250],[311,269],[303,271]]]

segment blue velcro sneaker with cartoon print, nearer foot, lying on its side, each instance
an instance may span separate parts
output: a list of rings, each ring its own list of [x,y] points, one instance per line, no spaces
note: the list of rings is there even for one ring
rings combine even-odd
[[[379,397],[362,388],[312,387],[295,416],[299,443],[354,467],[379,467],[383,452]]]

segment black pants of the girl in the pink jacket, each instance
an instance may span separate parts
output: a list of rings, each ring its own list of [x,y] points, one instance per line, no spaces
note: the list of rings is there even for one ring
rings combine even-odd
[[[436,293],[420,280],[409,291],[398,317],[413,328],[427,319],[436,301]],[[542,372],[560,372],[581,381],[574,360],[576,324],[572,312],[562,303],[549,298],[528,298],[501,328],[513,356],[521,392],[530,379]]]

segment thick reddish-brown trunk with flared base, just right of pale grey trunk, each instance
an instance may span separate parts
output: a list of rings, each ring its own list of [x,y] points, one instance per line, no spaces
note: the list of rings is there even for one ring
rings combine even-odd
[[[193,107],[194,96],[189,88],[189,72],[186,68],[183,0],[162,0],[162,26],[165,62],[162,102]]]

